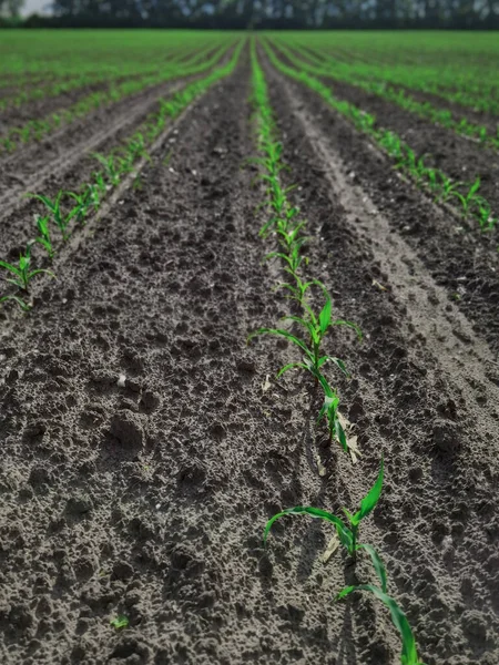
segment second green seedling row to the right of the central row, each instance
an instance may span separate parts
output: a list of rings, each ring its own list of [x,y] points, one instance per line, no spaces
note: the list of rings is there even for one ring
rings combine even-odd
[[[496,135],[490,134],[485,125],[472,123],[466,117],[458,120],[454,117],[450,111],[446,109],[438,109],[430,102],[420,102],[403,89],[394,88],[385,82],[363,80],[358,75],[359,68],[357,64],[338,66],[336,62],[324,62],[317,57],[314,58],[314,54],[312,54],[310,51],[307,51],[305,57],[309,59],[314,58],[315,62],[315,64],[309,64],[303,58],[295,58],[292,51],[289,51],[289,49],[287,49],[281,42],[274,43],[284,55],[286,55],[289,60],[293,59],[293,62],[296,64],[296,66],[304,71],[317,76],[332,79],[333,81],[346,82],[349,85],[359,88],[367,93],[375,94],[376,96],[387,100],[388,102],[391,102],[405,111],[414,113],[424,120],[429,120],[430,122],[439,124],[440,126],[451,130],[467,139],[477,140],[487,147],[499,150],[499,126]],[[304,51],[299,47],[294,47],[294,50],[301,55],[304,54]]]

